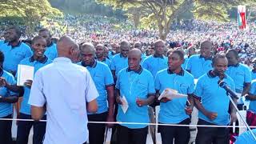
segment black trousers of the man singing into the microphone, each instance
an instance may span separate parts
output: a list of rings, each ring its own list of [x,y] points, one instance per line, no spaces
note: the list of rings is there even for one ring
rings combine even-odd
[[[198,119],[198,125],[214,125],[202,119]],[[225,127],[198,127],[196,144],[229,144],[229,129]]]

